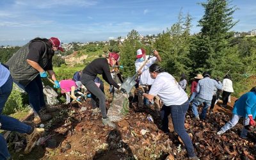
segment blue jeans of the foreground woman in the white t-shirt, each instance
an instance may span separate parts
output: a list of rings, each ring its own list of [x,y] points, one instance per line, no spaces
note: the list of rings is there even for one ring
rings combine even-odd
[[[185,122],[185,115],[188,111],[189,103],[188,101],[181,105],[173,105],[173,106],[165,106],[161,108],[160,115],[163,122],[163,131],[168,132],[168,116],[172,115],[172,122],[174,131],[179,134],[181,140],[183,141],[186,150],[188,152],[189,157],[195,156],[195,150],[191,141],[191,138],[188,135],[188,132],[186,131],[184,127]]]

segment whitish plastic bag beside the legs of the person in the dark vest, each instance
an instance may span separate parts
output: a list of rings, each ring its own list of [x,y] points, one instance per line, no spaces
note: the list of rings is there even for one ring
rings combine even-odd
[[[59,100],[57,99],[58,94],[51,88],[51,86],[45,86],[43,92],[46,105],[55,106],[59,103]]]

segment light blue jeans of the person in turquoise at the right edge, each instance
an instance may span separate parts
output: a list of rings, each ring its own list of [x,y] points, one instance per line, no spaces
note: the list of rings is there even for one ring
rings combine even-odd
[[[226,131],[228,131],[228,129],[232,129],[232,127],[234,127],[238,123],[238,120],[241,117],[242,116],[233,114],[232,119],[230,121],[228,121],[227,124],[225,124],[223,127],[221,127],[220,131],[226,132]],[[248,118],[248,117],[244,118],[244,120],[243,120],[244,126],[249,125],[249,122],[250,122],[250,118]],[[243,127],[243,129],[241,131],[241,137],[246,138],[247,134],[248,134],[248,130]]]

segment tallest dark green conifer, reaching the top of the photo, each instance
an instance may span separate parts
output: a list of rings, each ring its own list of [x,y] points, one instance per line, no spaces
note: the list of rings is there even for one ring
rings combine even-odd
[[[237,8],[225,0],[208,0],[207,3],[201,4],[205,13],[199,20],[198,26],[202,27],[201,32],[195,36],[191,45],[190,54],[193,60],[191,67],[194,71],[204,68],[204,70],[217,72],[220,70],[218,66],[220,63],[229,63],[223,60],[228,56],[224,51],[230,51],[227,47],[232,34],[228,31],[237,24],[237,21],[234,22],[232,18]],[[237,60],[237,58],[234,59],[234,61]],[[224,70],[228,68],[224,67],[223,72]]]

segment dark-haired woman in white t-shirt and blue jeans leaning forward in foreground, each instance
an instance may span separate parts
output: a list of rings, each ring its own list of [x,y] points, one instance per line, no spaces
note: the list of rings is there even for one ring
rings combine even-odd
[[[175,78],[164,72],[156,63],[149,67],[149,72],[150,77],[155,79],[149,93],[136,90],[136,94],[142,95],[149,100],[154,99],[156,95],[160,97],[164,104],[161,108],[162,130],[165,133],[170,132],[168,129],[168,115],[171,113],[174,131],[179,134],[183,141],[189,159],[197,159],[191,138],[189,138],[188,132],[186,132],[184,127],[185,115],[189,108],[188,95],[175,81]]]

